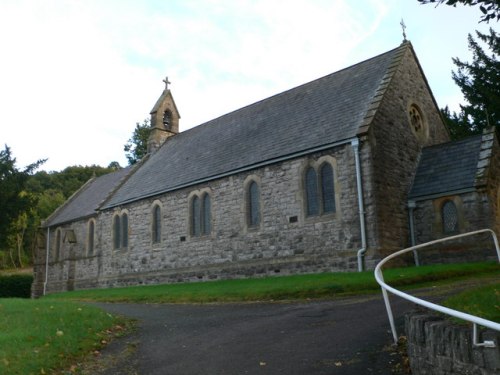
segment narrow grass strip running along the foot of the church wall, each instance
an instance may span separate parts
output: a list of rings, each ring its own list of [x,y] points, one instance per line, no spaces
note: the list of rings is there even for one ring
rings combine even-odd
[[[384,272],[384,277],[392,286],[420,287],[470,276],[491,276],[499,271],[500,265],[497,263],[447,264],[388,269]],[[207,303],[333,298],[379,291],[373,272],[367,271],[74,291],[50,295],[48,298],[137,303]]]

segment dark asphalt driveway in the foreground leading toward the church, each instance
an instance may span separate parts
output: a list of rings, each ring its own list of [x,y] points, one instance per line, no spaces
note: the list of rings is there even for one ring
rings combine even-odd
[[[392,301],[401,324],[412,306]],[[99,306],[138,319],[139,327],[104,351],[93,374],[393,374],[400,361],[379,295],[307,303]]]

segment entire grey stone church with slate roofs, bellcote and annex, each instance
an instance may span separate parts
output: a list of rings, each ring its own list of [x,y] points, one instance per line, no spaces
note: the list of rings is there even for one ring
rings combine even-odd
[[[33,294],[371,269],[411,243],[498,232],[494,131],[450,142],[410,42],[179,132],[43,224]]]

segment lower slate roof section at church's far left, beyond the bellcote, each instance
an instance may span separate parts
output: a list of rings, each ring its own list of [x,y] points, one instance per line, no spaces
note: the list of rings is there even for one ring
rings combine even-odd
[[[119,185],[130,170],[130,167],[123,168],[90,179],[43,223],[43,227],[60,225],[94,215],[102,202]]]

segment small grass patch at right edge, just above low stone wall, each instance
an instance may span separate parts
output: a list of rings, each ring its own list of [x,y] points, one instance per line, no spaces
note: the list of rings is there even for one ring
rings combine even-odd
[[[444,305],[500,323],[500,282],[454,295]]]

